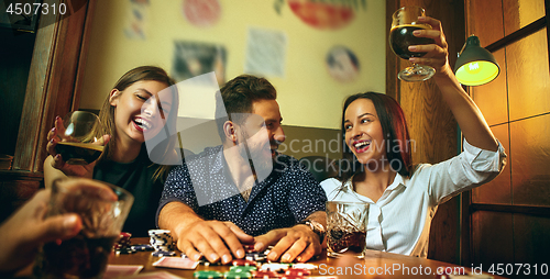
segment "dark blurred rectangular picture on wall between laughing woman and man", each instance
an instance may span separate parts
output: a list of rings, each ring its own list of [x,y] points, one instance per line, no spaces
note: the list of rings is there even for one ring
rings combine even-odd
[[[172,76],[176,81],[210,71],[216,72],[218,85],[226,83],[226,47],[198,42],[175,42]]]

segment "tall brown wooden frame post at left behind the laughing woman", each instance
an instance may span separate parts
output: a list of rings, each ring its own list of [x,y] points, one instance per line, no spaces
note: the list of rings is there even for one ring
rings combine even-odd
[[[40,21],[13,159],[15,170],[42,170],[46,135],[55,115],[65,115],[73,109],[74,96],[79,93],[75,92],[75,85],[84,55],[85,22],[88,7],[94,4],[95,1],[90,1],[61,21],[53,13]]]

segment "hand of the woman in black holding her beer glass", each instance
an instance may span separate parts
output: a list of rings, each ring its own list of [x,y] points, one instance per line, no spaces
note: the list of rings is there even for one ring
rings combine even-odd
[[[109,135],[103,135],[97,144],[106,145],[109,140]],[[67,164],[63,159],[62,155],[55,149],[55,146],[59,142],[74,142],[70,136],[65,136],[65,126],[63,125],[63,120],[59,116],[55,118],[54,127],[47,133],[47,141],[46,150],[50,155],[52,155],[52,157],[46,158],[46,161],[48,161],[53,168],[63,171],[66,176],[92,177],[94,167],[97,161],[92,161],[88,165],[70,165]]]

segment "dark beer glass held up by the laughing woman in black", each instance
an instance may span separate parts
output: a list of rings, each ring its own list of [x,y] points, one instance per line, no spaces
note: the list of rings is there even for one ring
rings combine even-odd
[[[62,138],[55,150],[70,165],[88,165],[103,153],[101,138],[95,135],[102,131],[99,118],[87,111],[73,111],[63,118],[63,127],[58,129]]]

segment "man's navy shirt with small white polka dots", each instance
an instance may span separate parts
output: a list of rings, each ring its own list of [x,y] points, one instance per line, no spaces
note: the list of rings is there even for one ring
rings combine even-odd
[[[290,156],[277,156],[273,171],[252,188],[248,202],[228,179],[227,168],[222,146],[206,148],[174,168],[164,185],[156,220],[164,205],[177,201],[206,220],[230,221],[257,236],[293,226],[316,211],[324,211],[323,189]]]

